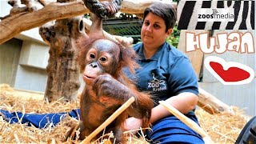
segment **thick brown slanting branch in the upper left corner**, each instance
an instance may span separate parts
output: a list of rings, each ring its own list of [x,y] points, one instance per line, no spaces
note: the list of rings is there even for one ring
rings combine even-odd
[[[53,2],[33,13],[22,13],[11,16],[0,22],[0,45],[22,31],[42,26],[46,22],[55,19],[75,17],[86,12],[88,13],[89,10],[86,11],[82,1],[67,3]]]

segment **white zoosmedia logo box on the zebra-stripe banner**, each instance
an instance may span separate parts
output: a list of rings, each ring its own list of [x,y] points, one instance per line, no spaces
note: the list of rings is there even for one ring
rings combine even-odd
[[[234,22],[234,8],[202,8],[198,11],[198,22]]]

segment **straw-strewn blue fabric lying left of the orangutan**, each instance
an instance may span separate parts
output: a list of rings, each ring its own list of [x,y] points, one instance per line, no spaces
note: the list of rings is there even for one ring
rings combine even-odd
[[[72,118],[79,118],[80,110],[72,110],[70,112],[55,113],[55,114],[22,114],[21,112],[10,113],[6,110],[0,110],[0,115],[10,123],[18,123],[21,120],[22,124],[26,123],[27,126],[35,126],[40,129],[46,126],[55,126],[58,122],[61,122],[66,115],[70,115]]]

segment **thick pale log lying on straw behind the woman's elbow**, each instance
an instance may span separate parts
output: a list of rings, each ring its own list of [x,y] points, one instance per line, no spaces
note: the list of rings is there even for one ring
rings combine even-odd
[[[234,110],[232,110],[230,106],[200,87],[198,95],[198,106],[202,107],[203,110],[206,110],[210,114],[218,114],[222,112],[234,114]]]

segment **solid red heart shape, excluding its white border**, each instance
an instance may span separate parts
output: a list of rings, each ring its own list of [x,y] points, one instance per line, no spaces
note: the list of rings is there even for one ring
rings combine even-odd
[[[223,70],[223,66],[218,62],[210,62],[210,67],[225,81],[238,82],[250,77],[246,70],[238,67],[230,67],[228,70]]]

